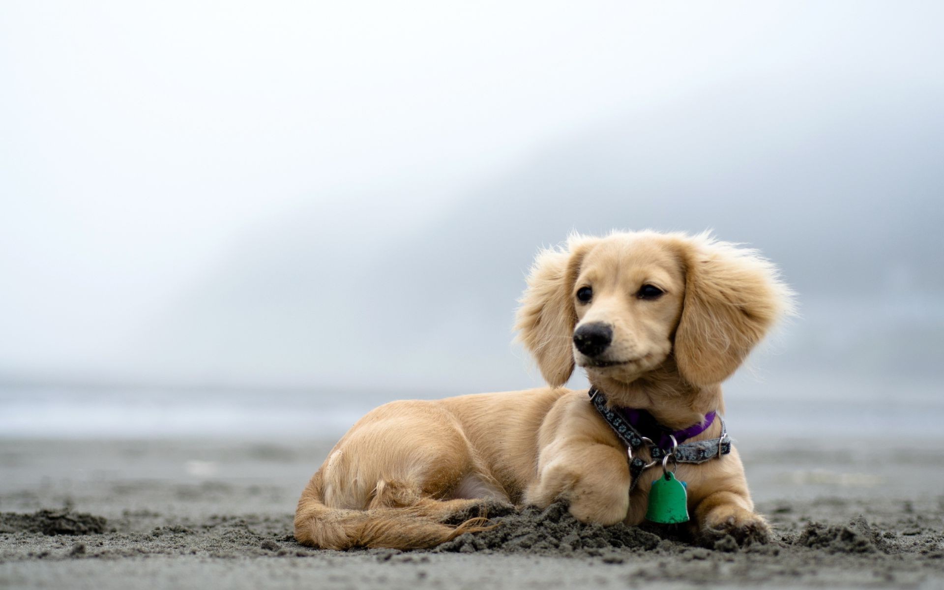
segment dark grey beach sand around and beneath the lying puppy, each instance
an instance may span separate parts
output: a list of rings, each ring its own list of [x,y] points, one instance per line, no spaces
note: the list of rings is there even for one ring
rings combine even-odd
[[[584,525],[555,504],[431,550],[337,552],[291,535],[297,493],[327,446],[0,442],[0,587],[944,587],[931,457],[872,465],[858,447],[824,447],[791,459],[816,459],[797,471],[772,461],[776,445],[742,451],[774,525],[767,545]],[[892,476],[910,478],[911,493]]]

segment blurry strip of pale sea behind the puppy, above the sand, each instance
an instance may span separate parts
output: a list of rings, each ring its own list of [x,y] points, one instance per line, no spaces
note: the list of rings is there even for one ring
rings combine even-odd
[[[936,379],[848,379],[750,374],[725,388],[736,436],[939,437],[944,396]],[[392,399],[477,392],[379,390],[228,391],[25,387],[0,388],[5,438],[246,440],[333,439]]]

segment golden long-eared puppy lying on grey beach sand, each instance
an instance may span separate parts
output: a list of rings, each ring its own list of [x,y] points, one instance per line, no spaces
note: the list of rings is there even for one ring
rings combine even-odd
[[[669,478],[672,449],[638,450],[646,466],[664,456],[663,468],[632,473],[632,449],[603,416],[632,409],[660,431],[694,425],[702,431],[693,442],[717,439],[716,457],[668,464],[686,482],[697,538],[766,542],[737,449],[721,454],[730,441],[723,420],[709,417],[724,412],[719,384],[792,301],[773,264],[707,233],[572,235],[538,254],[516,315],[548,387],[367,413],[303,491],[295,538],[317,548],[430,548],[491,528],[489,514],[561,500],[582,522],[640,524],[653,482]],[[578,366],[605,406],[563,387]]]

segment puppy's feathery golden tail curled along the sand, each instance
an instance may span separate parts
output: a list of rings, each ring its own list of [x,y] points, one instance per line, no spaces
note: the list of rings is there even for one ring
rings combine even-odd
[[[322,500],[318,470],[305,488],[295,511],[295,539],[323,549],[352,547],[419,549],[452,540],[464,532],[488,531],[487,518],[469,518],[458,526],[438,522],[441,515],[429,500],[415,506],[348,510],[330,508]]]

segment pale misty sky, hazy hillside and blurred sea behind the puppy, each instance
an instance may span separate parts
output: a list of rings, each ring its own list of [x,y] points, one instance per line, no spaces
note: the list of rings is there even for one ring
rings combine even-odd
[[[4,2],[0,436],[330,438],[540,385],[512,344],[531,260],[614,228],[714,229],[799,293],[732,430],[935,430],[942,19]]]

